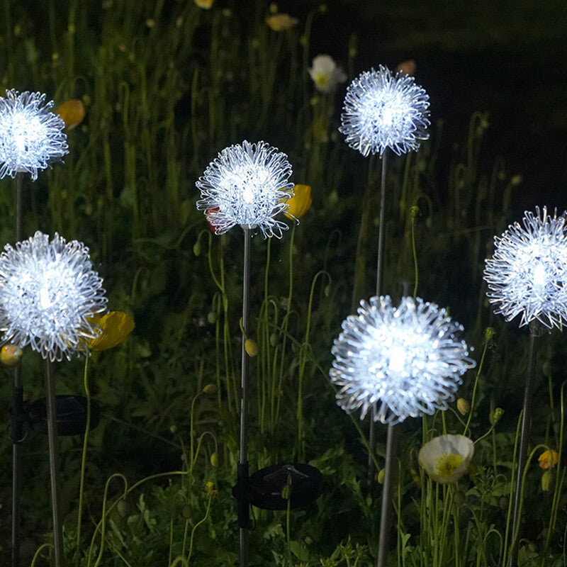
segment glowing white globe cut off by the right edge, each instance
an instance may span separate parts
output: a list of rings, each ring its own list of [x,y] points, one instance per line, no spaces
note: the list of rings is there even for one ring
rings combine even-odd
[[[520,327],[537,320],[561,330],[567,321],[567,213],[551,216],[544,207],[526,211],[520,223],[495,237],[493,257],[486,260],[488,301]]]

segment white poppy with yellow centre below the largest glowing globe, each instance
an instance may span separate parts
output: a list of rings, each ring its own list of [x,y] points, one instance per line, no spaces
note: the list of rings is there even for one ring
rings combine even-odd
[[[439,435],[426,443],[418,456],[420,465],[436,482],[454,483],[466,473],[474,444],[463,435]]]

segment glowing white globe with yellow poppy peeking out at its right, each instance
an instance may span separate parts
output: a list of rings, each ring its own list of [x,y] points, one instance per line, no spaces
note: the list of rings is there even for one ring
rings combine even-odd
[[[293,196],[291,165],[286,154],[266,142],[226,147],[196,182],[198,210],[205,210],[215,233],[235,225],[257,226],[265,237],[281,237],[286,223],[276,220]]]

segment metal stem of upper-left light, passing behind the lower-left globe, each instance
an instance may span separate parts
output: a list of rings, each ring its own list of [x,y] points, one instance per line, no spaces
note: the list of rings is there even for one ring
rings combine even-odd
[[[16,242],[22,238],[22,183],[23,173],[16,174]],[[20,493],[21,447],[23,441],[23,388],[20,366],[13,372],[12,407],[12,567],[20,567]]]

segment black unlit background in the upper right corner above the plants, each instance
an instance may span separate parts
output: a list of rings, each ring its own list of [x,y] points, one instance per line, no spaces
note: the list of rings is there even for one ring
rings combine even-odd
[[[320,4],[281,1],[280,12],[304,18]],[[330,0],[315,16],[313,56],[343,66],[357,35],[354,72],[394,69],[412,59],[415,79],[431,100],[431,122],[444,120],[439,175],[447,179],[454,145],[466,140],[474,111],[490,128],[481,168],[502,157],[507,174],[522,175],[513,209],[546,204],[567,209],[567,5],[558,0]],[[346,86],[337,94],[342,101]],[[339,108],[337,112],[339,112]]]

